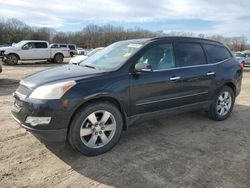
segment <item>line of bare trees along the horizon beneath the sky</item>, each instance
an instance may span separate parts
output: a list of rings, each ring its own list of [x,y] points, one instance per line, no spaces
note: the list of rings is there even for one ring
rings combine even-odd
[[[225,43],[233,51],[250,49],[246,36],[225,37],[223,35],[206,36],[190,32],[152,32],[141,28],[124,29],[107,24],[104,26],[87,25],[81,31],[57,32],[47,27],[31,27],[22,21],[0,18],[0,45],[10,45],[21,40],[46,40],[50,43],[72,43],[83,48],[96,48],[126,39],[152,38],[159,36],[193,36],[209,38]]]

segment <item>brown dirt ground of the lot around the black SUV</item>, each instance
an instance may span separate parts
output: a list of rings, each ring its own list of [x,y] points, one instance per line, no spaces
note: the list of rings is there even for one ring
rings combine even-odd
[[[10,115],[21,78],[58,66],[25,63],[0,73],[0,187],[250,187],[250,68],[232,116],[203,112],[134,125],[114,149],[85,157],[45,146]]]

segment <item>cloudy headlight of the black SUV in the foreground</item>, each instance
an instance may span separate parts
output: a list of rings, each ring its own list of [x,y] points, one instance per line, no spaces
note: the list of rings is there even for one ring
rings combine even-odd
[[[75,84],[75,81],[67,81],[43,85],[36,88],[29,97],[33,99],[60,99]]]

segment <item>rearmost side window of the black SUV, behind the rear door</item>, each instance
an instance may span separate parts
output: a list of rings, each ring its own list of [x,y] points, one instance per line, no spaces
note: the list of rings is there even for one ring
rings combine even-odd
[[[228,49],[223,46],[215,46],[210,44],[204,44],[203,46],[206,50],[209,63],[218,63],[232,57]]]

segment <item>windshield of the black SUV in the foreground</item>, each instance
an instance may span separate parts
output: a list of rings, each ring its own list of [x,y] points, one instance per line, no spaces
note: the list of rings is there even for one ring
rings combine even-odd
[[[120,68],[141,47],[141,43],[133,43],[131,41],[116,42],[90,56],[81,62],[80,65],[113,71]]]

